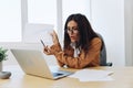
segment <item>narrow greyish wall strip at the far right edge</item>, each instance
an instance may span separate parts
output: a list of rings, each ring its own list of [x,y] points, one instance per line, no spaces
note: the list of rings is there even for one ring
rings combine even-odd
[[[125,64],[133,66],[133,0],[125,0],[124,3]]]

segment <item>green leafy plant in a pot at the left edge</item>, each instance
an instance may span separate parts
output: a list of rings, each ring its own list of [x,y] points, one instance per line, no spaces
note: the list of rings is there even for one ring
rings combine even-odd
[[[3,47],[0,47],[0,72],[2,70],[2,61],[8,59],[7,58],[7,52],[8,50],[4,50]]]

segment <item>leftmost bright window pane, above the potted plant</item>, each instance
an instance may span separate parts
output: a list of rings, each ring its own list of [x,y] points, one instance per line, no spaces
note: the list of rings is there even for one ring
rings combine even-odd
[[[21,41],[21,0],[0,0],[0,42]]]

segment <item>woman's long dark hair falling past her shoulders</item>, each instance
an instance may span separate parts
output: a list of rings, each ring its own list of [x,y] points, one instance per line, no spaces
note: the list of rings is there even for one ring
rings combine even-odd
[[[68,28],[68,23],[70,21],[74,21],[78,23],[78,28],[79,28],[79,33],[80,33],[80,41],[78,43],[78,47],[81,46],[82,50],[88,51],[89,50],[89,45],[90,45],[90,41],[93,37],[98,37],[96,33],[93,31],[89,20],[86,19],[85,15],[81,14],[81,13],[76,13],[76,14],[71,14],[68,19],[66,22],[64,24],[64,50],[68,48],[70,46],[71,40],[69,37],[69,34],[66,32],[66,28]]]

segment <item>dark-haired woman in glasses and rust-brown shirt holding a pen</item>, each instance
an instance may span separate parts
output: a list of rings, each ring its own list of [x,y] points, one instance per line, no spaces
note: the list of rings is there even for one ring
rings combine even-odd
[[[71,14],[64,25],[63,50],[55,32],[52,34],[53,45],[44,47],[44,53],[54,55],[59,65],[71,68],[84,68],[100,65],[102,41],[91,28],[83,14]]]

